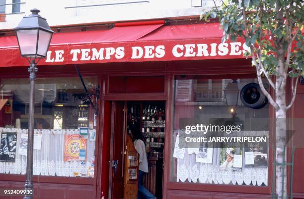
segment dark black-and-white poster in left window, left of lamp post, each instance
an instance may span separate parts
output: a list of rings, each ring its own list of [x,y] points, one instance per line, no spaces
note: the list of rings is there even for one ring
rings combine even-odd
[[[17,134],[15,132],[2,132],[0,144],[0,161],[15,162]]]

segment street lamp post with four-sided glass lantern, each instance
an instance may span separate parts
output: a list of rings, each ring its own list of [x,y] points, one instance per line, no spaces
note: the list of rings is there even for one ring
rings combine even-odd
[[[39,9],[31,9],[32,14],[24,16],[19,25],[14,28],[17,35],[20,54],[30,64],[30,101],[28,111],[28,137],[26,157],[25,190],[33,192],[33,142],[34,142],[34,98],[37,63],[46,56],[54,31],[51,30],[46,19],[38,13]],[[32,195],[25,195],[24,199],[32,199]]]

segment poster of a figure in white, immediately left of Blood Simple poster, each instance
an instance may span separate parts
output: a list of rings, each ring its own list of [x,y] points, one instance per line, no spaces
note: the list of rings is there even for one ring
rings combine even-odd
[[[242,143],[225,144],[220,149],[220,169],[225,171],[240,171],[242,168]]]

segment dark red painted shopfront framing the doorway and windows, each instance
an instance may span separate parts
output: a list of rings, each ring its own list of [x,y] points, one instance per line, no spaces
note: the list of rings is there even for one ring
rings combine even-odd
[[[212,40],[212,41],[211,41]],[[147,42],[147,41],[146,41]],[[155,41],[153,44],[168,43],[172,47],[181,41],[167,42]],[[183,41],[185,42],[185,41]],[[188,41],[187,41],[188,42]],[[199,43],[200,40],[191,40],[190,43]],[[217,42],[210,39],[210,42]],[[147,42],[149,43],[149,42]],[[144,46],[145,42],[140,41],[132,45]],[[151,44],[151,43],[150,43]],[[104,44],[96,44],[105,46]],[[106,44],[108,45],[108,44]],[[115,44],[116,45],[116,44]],[[117,44],[118,45],[118,44]],[[128,44],[129,45],[129,44]],[[129,45],[130,46],[130,45]],[[74,46],[76,47],[76,46]],[[58,47],[54,47],[58,48]],[[64,48],[69,48],[65,46]],[[6,78],[27,78],[28,72],[26,61],[21,61],[18,51],[13,56],[15,64],[13,67],[0,67],[0,81]],[[1,54],[3,58],[8,54]],[[69,58],[67,58],[69,59]],[[183,57],[173,59],[166,56],[159,60],[149,61],[140,59],[136,62],[128,62],[123,59],[120,62],[113,60],[113,63],[86,62],[78,63],[82,76],[94,76],[100,85],[99,117],[97,123],[96,150],[95,150],[95,176],[92,179],[68,178],[68,177],[47,177],[34,176],[35,199],[101,199],[107,198],[109,187],[109,148],[111,135],[111,103],[115,100],[164,100],[166,101],[166,139],[164,145],[164,170],[163,170],[163,198],[164,199],[270,199],[273,160],[269,158],[269,182],[266,187],[232,186],[232,185],[207,185],[194,183],[169,182],[169,169],[171,157],[171,121],[173,115],[173,80],[174,75],[201,75],[204,78],[218,76],[225,77],[255,77],[255,69],[251,66],[250,60],[236,56],[213,59],[203,57],[200,60]],[[0,61],[3,63],[2,61]],[[7,64],[7,62],[6,62]],[[52,77],[76,77],[76,71],[72,62],[65,65],[52,63],[39,64],[37,78]],[[157,80],[155,84],[149,84]],[[141,84],[141,83],[146,84]],[[122,86],[123,85],[123,86]],[[287,92],[289,97],[291,91]],[[293,108],[289,111],[290,117],[304,117],[304,85],[298,85],[297,99]],[[274,117],[274,110],[270,108],[270,117]],[[0,119],[1,123],[1,119]],[[293,125],[293,124],[291,124]],[[303,129],[303,126],[295,126]],[[270,135],[274,136],[274,125],[270,125]],[[269,154],[272,154],[269,151]],[[304,198],[304,150],[296,150],[294,168],[294,198]],[[23,188],[25,176],[0,174],[0,188]],[[20,197],[22,198],[22,197]]]

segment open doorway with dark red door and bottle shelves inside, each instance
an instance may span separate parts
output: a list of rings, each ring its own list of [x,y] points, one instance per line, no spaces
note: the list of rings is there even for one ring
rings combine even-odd
[[[143,177],[143,186],[155,197],[161,199],[165,139],[165,101],[112,101],[109,198],[126,199],[130,198],[130,196],[126,195],[134,197],[137,194],[134,192],[137,192],[139,183],[138,173],[134,174],[134,172],[138,172],[138,167],[135,170],[134,168],[130,168],[130,164],[128,164],[130,155],[127,158],[125,157],[127,154],[130,154],[130,150],[132,151],[128,140],[135,129],[142,134],[148,158],[149,172]],[[132,141],[131,145],[133,145]],[[130,176],[132,175],[136,183],[126,180],[126,178],[130,180]],[[126,189],[128,189],[127,192]],[[141,195],[140,193],[138,194]]]

